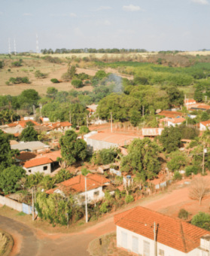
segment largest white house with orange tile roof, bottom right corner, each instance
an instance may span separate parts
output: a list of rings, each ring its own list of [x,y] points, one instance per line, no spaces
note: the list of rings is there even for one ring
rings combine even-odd
[[[117,247],[137,255],[209,255],[210,233],[186,221],[137,206],[115,215],[114,223]]]

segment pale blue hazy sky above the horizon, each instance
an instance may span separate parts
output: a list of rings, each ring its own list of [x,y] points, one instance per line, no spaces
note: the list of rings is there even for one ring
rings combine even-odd
[[[0,0],[0,53],[210,49],[210,0]]]

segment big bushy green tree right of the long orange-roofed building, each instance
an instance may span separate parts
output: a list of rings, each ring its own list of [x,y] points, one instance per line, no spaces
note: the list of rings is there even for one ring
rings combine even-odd
[[[143,181],[154,178],[160,171],[158,154],[162,151],[151,139],[134,139],[128,148],[128,155],[121,161],[122,172],[136,173]]]

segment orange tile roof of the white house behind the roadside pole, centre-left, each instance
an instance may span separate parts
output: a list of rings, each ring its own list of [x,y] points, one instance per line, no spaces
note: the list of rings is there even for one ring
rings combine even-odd
[[[103,184],[110,182],[108,178],[105,178],[102,175],[87,174],[87,190],[92,190],[97,187],[102,187]],[[85,191],[85,179],[84,175],[78,175],[74,178],[69,178],[67,181],[63,181],[57,184],[57,187],[54,189],[47,190],[47,194],[52,194],[56,189],[65,189],[66,192],[74,191],[77,193],[82,193]]]

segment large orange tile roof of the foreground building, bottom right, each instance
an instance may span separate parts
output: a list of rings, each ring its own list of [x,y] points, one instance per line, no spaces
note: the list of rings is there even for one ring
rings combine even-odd
[[[154,222],[157,227],[157,242],[175,248],[185,253],[200,245],[200,237],[210,234],[200,227],[138,206],[129,211],[114,216],[114,223],[138,233],[141,236],[154,239]]]

